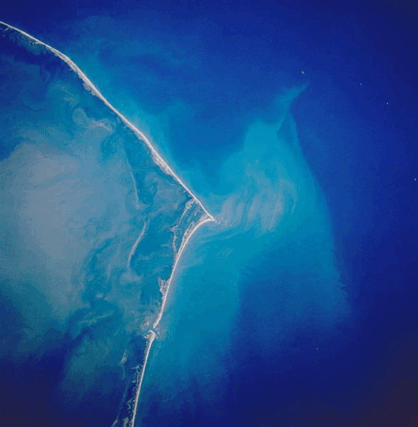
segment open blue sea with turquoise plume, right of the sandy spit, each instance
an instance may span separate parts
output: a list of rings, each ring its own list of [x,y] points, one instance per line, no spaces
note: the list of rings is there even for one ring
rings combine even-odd
[[[179,262],[135,425],[416,425],[412,3],[16,2],[0,19],[70,56],[223,221]],[[41,360],[2,361],[4,423],[110,426],[120,372],[54,402],[77,340],[46,319]]]

